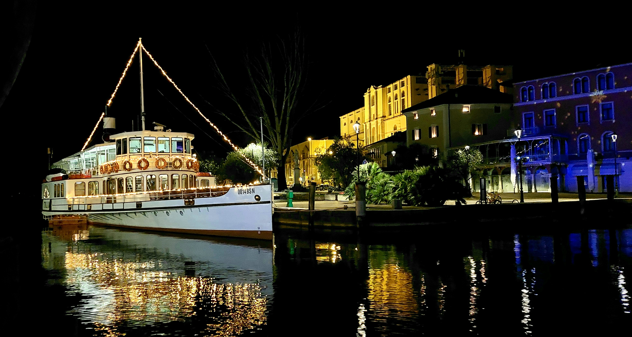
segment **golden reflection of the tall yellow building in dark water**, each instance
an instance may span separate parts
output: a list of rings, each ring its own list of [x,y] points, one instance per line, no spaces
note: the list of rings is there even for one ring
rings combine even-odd
[[[368,300],[378,314],[397,312],[401,317],[415,317],[418,312],[413,292],[413,275],[399,266],[392,251],[371,251],[368,270]]]

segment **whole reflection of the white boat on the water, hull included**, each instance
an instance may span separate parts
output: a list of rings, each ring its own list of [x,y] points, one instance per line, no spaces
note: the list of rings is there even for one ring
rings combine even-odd
[[[77,232],[45,232],[50,249],[43,250],[42,263],[63,271],[51,282],[83,298],[67,314],[94,326],[97,335],[202,315],[199,332],[214,336],[266,324],[271,249],[94,227]]]

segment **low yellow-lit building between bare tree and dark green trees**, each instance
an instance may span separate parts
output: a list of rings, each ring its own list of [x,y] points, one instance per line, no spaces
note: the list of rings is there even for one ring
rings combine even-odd
[[[355,132],[354,132],[355,134]],[[285,161],[285,176],[288,186],[296,184],[294,181],[295,153],[298,153],[298,184],[307,185],[309,182],[322,184],[320,172],[316,167],[316,156],[324,154],[327,148],[334,143],[334,139],[312,139],[308,138],[303,143],[291,146],[289,155]],[[354,143],[355,144],[355,143]]]

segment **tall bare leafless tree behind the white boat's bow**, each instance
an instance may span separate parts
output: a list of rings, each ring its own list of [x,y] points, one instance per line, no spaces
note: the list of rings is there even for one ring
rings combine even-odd
[[[255,57],[246,52],[246,95],[237,95],[215,59],[213,62],[222,93],[235,103],[239,112],[231,114],[214,107],[215,110],[257,140],[261,138],[259,117],[263,117],[264,136],[279,158],[279,188],[286,189],[284,163],[290,154],[294,129],[300,119],[318,110],[314,108],[314,103],[299,104],[307,83],[303,38],[299,32],[295,32],[287,41],[279,39],[276,44],[263,44],[260,54]]]

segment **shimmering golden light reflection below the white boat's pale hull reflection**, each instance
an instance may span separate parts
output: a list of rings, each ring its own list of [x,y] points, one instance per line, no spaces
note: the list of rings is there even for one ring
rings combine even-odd
[[[265,324],[267,299],[257,283],[219,284],[210,278],[172,275],[157,270],[159,266],[155,261],[66,252],[66,283],[88,295],[71,312],[107,331],[107,336],[119,336],[116,327],[123,321],[182,321],[200,309],[215,318],[214,324],[207,324],[214,336],[234,336]]]

